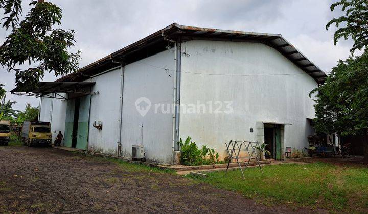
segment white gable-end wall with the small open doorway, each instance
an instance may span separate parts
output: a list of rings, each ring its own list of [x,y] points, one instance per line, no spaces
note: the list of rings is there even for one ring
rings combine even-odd
[[[312,77],[261,43],[193,40],[182,47],[187,55],[181,57],[181,105],[232,101],[233,112],[186,114],[181,107],[181,138],[191,136],[225,157],[226,140],[256,141],[256,122],[263,121],[291,123],[285,125],[284,146],[307,147],[306,118],[314,117],[309,92],[317,87]]]

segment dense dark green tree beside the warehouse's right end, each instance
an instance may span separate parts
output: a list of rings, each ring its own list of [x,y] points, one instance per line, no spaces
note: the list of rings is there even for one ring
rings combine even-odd
[[[368,53],[340,60],[318,91],[314,105],[315,128],[340,135],[366,134],[368,130]]]

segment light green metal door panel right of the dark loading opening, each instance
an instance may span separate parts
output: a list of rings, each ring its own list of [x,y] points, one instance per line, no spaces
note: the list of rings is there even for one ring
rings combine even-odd
[[[80,98],[77,149],[87,150],[90,95]]]

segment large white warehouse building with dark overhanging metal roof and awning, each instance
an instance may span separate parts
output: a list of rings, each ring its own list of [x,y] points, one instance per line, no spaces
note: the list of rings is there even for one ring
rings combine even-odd
[[[225,142],[268,143],[272,158],[308,147],[312,89],[326,74],[279,34],[173,23],[55,82],[42,96],[40,121],[63,145],[131,158],[143,145],[149,161],[171,163],[177,141],[226,157]]]

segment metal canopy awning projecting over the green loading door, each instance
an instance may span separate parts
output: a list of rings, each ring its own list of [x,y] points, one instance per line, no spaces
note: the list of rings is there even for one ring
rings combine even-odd
[[[16,87],[10,93],[23,96],[68,99],[62,94],[88,95],[91,93],[91,86],[93,85],[95,85],[95,82],[40,82],[37,87],[27,89]]]

